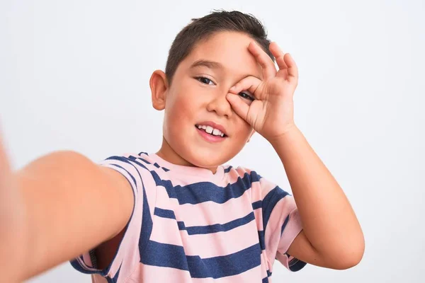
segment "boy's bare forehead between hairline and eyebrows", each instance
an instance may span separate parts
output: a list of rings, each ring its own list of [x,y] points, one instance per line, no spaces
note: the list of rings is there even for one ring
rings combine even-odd
[[[220,63],[224,67],[223,71],[235,76],[251,75],[261,78],[261,67],[248,50],[252,40],[243,33],[215,33],[208,40],[199,42],[181,62],[181,67],[188,69],[193,62],[206,60]]]

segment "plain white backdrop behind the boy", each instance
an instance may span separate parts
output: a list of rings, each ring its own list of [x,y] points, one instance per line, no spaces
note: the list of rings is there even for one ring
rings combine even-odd
[[[295,122],[365,234],[356,267],[291,273],[276,262],[273,282],[425,282],[424,1],[0,1],[0,125],[13,168],[58,149],[94,161],[157,151],[163,113],[149,76],[191,18],[219,8],[253,13],[293,55]],[[258,134],[229,163],[290,191]],[[64,262],[28,282],[91,279]]]

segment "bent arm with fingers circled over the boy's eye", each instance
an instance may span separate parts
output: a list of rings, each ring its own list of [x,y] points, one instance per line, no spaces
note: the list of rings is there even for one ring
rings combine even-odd
[[[263,78],[247,76],[232,88],[227,100],[237,114],[265,137],[276,150],[285,168],[302,232],[288,252],[314,265],[345,269],[363,258],[363,231],[344,191],[314,153],[294,121],[293,96],[298,84],[298,68],[276,42],[269,50],[251,42],[249,51],[261,66]],[[249,105],[237,94],[249,91],[256,98]]]

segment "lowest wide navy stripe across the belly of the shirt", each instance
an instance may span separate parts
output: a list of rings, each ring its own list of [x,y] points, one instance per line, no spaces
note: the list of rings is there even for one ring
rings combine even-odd
[[[144,264],[188,270],[192,278],[217,279],[237,275],[261,264],[259,244],[230,255],[200,258],[185,255],[181,246],[149,241],[147,253],[149,256],[141,260]]]

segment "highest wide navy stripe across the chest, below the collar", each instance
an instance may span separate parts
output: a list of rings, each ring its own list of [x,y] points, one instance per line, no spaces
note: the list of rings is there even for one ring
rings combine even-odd
[[[170,180],[162,180],[159,175],[151,171],[152,177],[157,186],[165,187],[170,198],[175,198],[179,204],[199,204],[202,202],[215,202],[223,204],[232,198],[240,197],[246,190],[251,189],[251,180],[253,177],[248,173],[243,178],[238,178],[236,183],[227,184],[226,187],[220,187],[210,182],[200,182],[191,185],[174,186]]]

